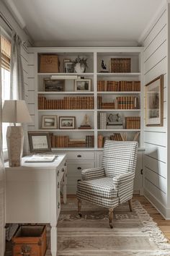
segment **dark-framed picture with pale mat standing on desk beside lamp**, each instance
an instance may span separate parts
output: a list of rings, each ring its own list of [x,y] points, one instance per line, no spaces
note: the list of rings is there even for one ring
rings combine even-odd
[[[28,132],[30,153],[50,152],[50,133],[49,132]]]

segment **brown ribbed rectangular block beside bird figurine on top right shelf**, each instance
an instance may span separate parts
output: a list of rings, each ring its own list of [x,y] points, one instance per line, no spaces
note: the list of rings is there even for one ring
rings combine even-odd
[[[130,73],[130,58],[111,58],[111,73]]]

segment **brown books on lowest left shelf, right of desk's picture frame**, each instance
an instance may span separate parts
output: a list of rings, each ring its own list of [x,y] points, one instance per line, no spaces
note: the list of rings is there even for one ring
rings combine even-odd
[[[85,139],[69,139],[68,136],[57,136],[50,133],[51,148],[94,148],[94,135]]]

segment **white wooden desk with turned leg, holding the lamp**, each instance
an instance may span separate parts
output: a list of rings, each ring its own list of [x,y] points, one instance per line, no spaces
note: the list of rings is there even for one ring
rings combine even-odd
[[[66,155],[58,154],[51,163],[6,163],[6,223],[50,223],[51,253],[57,255],[57,222],[66,202]]]

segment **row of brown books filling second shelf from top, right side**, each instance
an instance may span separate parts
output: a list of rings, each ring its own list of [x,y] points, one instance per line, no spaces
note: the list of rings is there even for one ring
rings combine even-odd
[[[140,91],[140,81],[97,81],[98,92],[132,92]]]

